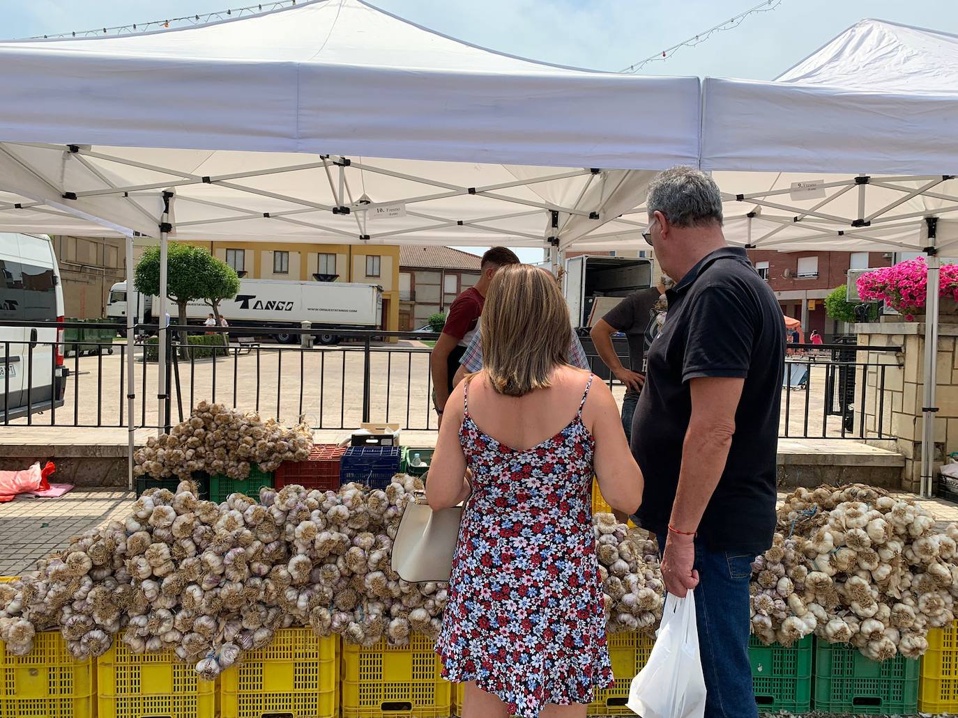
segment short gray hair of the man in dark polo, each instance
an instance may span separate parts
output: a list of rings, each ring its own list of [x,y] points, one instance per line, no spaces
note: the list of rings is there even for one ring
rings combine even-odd
[[[705,172],[673,167],[659,172],[646,198],[649,216],[661,212],[676,227],[722,223],[719,186]]]

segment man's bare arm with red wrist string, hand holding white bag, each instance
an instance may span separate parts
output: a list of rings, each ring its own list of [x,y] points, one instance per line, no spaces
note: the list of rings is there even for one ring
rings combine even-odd
[[[675,530],[669,531],[662,557],[666,590],[679,598],[698,583],[698,572],[693,569],[695,533],[725,470],[744,383],[741,378],[714,376],[689,380],[692,416],[682,444],[682,467],[669,519]]]

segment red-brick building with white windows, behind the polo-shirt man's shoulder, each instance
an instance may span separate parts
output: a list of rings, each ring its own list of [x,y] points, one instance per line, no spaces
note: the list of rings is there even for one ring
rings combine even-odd
[[[849,269],[887,267],[891,253],[881,252],[774,252],[749,250],[748,257],[775,292],[782,312],[802,321],[806,334],[812,329],[826,336],[842,333],[842,327],[825,314],[825,298],[844,284]]]

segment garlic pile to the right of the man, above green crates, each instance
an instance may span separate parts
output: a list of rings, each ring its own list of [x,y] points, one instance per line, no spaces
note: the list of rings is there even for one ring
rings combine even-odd
[[[876,661],[917,658],[955,617],[958,526],[863,484],[800,488],[752,565],[752,630],[789,645],[814,633]]]

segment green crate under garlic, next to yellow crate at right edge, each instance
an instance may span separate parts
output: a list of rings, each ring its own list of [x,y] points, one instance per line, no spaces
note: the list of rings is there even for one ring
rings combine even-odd
[[[918,659],[875,662],[854,646],[815,639],[816,711],[912,715],[918,710],[918,680]]]

